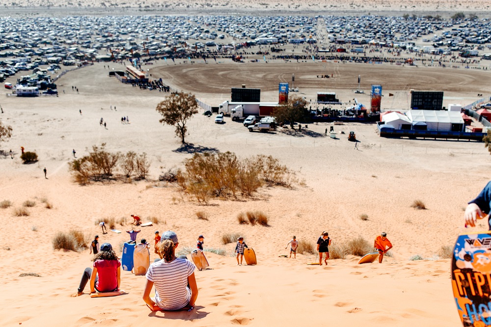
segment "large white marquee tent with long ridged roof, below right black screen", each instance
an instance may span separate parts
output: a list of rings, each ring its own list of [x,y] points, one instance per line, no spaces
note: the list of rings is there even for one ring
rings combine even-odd
[[[461,132],[464,129],[464,119],[458,111],[415,109],[409,110],[406,115],[412,124],[426,123],[429,131]]]

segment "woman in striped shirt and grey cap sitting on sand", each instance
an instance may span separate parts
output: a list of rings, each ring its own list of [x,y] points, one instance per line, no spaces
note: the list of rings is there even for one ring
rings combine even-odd
[[[152,311],[183,308],[191,310],[198,297],[198,287],[194,278],[196,266],[186,256],[175,256],[178,245],[176,233],[165,232],[159,245],[164,259],[154,262],[148,268],[143,300]],[[154,284],[155,298],[150,298]]]

